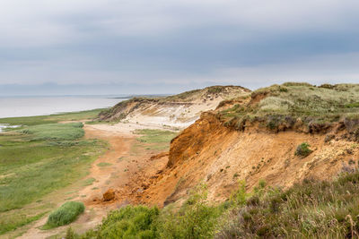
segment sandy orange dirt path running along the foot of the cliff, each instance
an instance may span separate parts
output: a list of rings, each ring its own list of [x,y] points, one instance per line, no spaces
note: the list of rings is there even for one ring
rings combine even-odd
[[[167,158],[150,160],[158,152],[144,152],[132,147],[136,143],[136,129],[149,128],[148,125],[138,124],[85,124],[85,138],[99,139],[109,142],[109,150],[92,163],[83,181],[88,185],[76,191],[72,200],[83,201],[85,212],[70,226],[78,233],[82,233],[101,223],[101,219],[109,210],[118,209],[130,202],[138,202],[138,196],[144,186],[146,175],[154,175],[165,166]],[[156,127],[158,129],[158,127]],[[103,201],[102,195],[113,189],[116,198]],[[64,201],[62,201],[60,206]],[[51,230],[40,230],[46,223],[47,217],[41,218],[31,228],[18,238],[48,238],[52,235],[63,235],[68,226],[60,226]]]

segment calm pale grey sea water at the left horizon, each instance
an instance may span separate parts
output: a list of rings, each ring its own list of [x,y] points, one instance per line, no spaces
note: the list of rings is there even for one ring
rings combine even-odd
[[[113,107],[123,98],[108,97],[21,97],[0,98],[0,118],[51,115]]]

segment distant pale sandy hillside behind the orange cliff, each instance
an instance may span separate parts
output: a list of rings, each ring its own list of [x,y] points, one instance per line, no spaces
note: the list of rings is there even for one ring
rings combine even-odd
[[[240,86],[212,86],[165,98],[131,98],[102,112],[99,117],[101,121],[122,120],[132,124],[186,128],[202,112],[215,109],[224,99],[249,93],[250,90]]]

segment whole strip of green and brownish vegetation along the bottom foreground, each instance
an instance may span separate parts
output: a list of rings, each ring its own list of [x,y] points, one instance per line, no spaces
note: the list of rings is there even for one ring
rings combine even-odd
[[[180,209],[127,206],[101,226],[66,238],[354,238],[359,234],[359,172],[331,182],[307,179],[287,190],[260,181],[247,193],[244,182],[220,205],[199,185]]]

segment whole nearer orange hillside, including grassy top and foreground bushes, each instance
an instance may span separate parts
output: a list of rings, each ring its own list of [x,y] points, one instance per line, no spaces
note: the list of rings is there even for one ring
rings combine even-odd
[[[359,85],[274,85],[202,113],[66,238],[356,238],[358,158]]]

